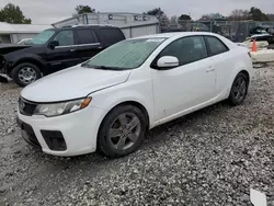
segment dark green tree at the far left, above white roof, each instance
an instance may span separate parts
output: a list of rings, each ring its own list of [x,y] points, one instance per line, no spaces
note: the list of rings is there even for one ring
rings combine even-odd
[[[24,16],[20,7],[8,3],[0,10],[0,22],[8,22],[11,24],[31,24],[32,20]]]

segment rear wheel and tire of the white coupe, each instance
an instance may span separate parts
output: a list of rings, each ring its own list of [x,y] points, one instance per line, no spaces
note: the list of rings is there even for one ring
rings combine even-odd
[[[247,75],[239,73],[232,83],[228,103],[232,106],[241,105],[247,98],[248,89],[249,81]]]

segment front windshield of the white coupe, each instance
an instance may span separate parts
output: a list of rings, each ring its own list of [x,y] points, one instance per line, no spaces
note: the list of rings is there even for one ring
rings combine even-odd
[[[99,69],[134,69],[141,66],[165,38],[138,38],[117,43],[94,56],[82,67]]]

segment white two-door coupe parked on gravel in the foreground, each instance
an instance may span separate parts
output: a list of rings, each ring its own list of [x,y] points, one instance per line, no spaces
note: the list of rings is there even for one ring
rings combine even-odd
[[[134,152],[147,129],[228,100],[242,104],[249,50],[213,33],[164,33],[117,43],[21,92],[23,138],[46,153]]]

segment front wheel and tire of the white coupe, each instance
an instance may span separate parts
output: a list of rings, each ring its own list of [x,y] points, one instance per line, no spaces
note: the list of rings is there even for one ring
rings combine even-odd
[[[127,126],[122,124],[123,122],[126,122]],[[136,126],[134,127],[134,125]],[[130,126],[133,126],[132,130]],[[141,145],[146,126],[146,118],[138,107],[133,105],[117,106],[106,115],[101,124],[98,135],[98,150],[109,158],[127,156]]]

